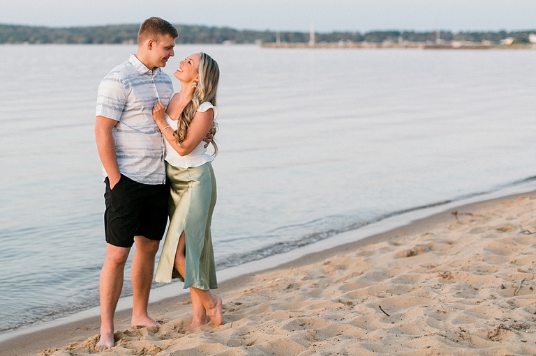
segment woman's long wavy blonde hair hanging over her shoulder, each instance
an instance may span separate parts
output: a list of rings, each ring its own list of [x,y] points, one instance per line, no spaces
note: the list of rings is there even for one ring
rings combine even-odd
[[[216,92],[218,91],[218,81],[220,80],[220,68],[218,68],[218,63],[216,63],[211,56],[203,52],[200,54],[201,59],[198,68],[198,86],[194,88],[192,100],[188,102],[179,115],[177,130],[174,132],[174,137],[179,144],[186,139],[186,132],[188,131],[188,127],[190,126],[195,111],[198,110],[199,105],[201,105],[202,102],[207,101],[216,106]],[[214,153],[212,155],[216,157],[218,154],[218,146],[216,145],[216,142],[214,142],[214,137],[212,138],[212,145],[214,146]]]

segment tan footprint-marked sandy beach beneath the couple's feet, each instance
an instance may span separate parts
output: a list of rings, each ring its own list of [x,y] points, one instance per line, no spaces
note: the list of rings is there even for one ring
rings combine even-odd
[[[536,355],[535,253],[536,194],[508,196],[225,281],[221,327],[187,331],[181,295],[151,304],[158,328],[119,313],[105,353],[90,318],[0,355]]]

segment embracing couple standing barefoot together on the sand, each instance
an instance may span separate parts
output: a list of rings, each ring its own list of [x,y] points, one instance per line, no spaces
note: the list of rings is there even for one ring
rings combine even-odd
[[[114,313],[131,247],[132,326],[158,323],[147,312],[155,256],[165,228],[155,280],[173,277],[190,288],[190,328],[223,324],[210,224],[216,203],[211,161],[217,153],[218,64],[204,53],[180,62],[171,79],[161,68],[174,56],[177,29],[151,17],[140,26],[137,52],[108,73],[98,88],[95,135],[105,177],[106,256],[99,282],[101,339],[114,346]],[[209,143],[214,154],[207,153]]]

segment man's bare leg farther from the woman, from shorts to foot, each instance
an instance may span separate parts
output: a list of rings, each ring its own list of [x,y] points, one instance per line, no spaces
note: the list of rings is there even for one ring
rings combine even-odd
[[[121,296],[126,258],[130,248],[107,244],[106,257],[99,279],[101,302],[101,339],[95,346],[101,352],[114,346],[114,314]]]

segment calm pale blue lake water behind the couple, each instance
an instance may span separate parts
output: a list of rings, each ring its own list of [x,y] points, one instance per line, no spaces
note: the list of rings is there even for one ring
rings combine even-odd
[[[536,50],[180,45],[165,70],[200,50],[222,71],[220,269],[536,175]],[[98,304],[96,90],[133,52],[0,46],[0,331]]]

